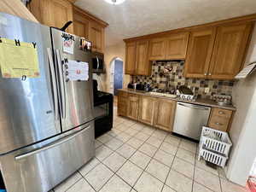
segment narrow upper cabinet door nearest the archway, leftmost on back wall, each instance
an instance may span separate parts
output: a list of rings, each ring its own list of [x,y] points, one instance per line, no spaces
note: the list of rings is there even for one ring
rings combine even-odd
[[[136,74],[136,42],[126,44],[125,74]]]

